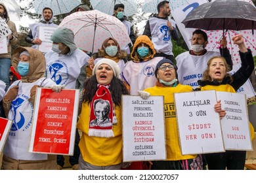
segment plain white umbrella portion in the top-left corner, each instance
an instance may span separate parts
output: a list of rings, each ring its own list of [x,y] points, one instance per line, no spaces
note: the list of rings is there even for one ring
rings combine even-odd
[[[20,6],[16,3],[15,0],[0,0],[0,3],[3,3],[7,8],[10,20],[20,20]]]

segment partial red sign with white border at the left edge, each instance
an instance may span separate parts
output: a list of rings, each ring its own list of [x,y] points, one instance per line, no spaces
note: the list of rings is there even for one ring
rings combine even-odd
[[[0,154],[3,150],[3,146],[5,145],[5,141],[8,137],[8,133],[11,129],[11,126],[11,120],[0,117]]]

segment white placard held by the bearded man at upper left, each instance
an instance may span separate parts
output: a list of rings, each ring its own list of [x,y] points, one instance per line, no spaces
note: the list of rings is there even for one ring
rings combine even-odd
[[[51,41],[51,35],[57,29],[57,27],[46,27],[39,26],[38,38],[41,39],[42,43],[38,46],[38,49],[47,53],[51,50],[53,41]]]

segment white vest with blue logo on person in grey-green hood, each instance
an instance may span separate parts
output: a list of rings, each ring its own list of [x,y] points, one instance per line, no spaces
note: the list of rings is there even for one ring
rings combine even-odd
[[[75,89],[80,69],[90,57],[78,48],[72,54],[57,54],[53,50],[45,54],[47,78],[66,89]]]

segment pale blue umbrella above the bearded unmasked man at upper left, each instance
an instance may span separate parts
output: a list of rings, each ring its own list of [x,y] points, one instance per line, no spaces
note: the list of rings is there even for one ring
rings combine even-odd
[[[54,15],[70,12],[81,4],[81,0],[35,0],[33,8],[37,14],[43,13],[43,8],[49,7]]]

